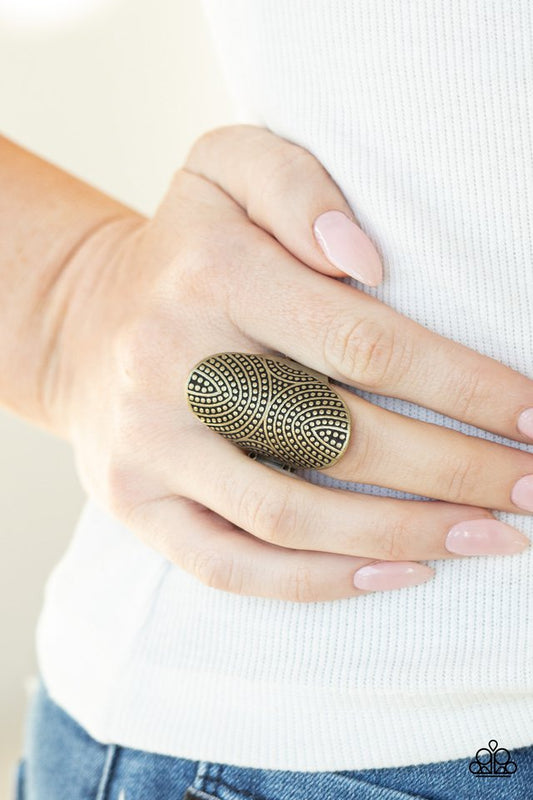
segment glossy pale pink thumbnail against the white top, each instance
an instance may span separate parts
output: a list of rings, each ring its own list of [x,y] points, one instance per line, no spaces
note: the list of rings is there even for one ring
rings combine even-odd
[[[315,238],[328,261],[368,286],[383,280],[379,254],[368,238],[342,211],[325,211],[313,224]]]

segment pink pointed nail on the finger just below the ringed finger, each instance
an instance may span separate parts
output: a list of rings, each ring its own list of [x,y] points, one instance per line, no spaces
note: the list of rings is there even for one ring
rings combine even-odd
[[[446,548],[462,556],[511,555],[529,546],[529,539],[497,519],[469,519],[448,531]]]

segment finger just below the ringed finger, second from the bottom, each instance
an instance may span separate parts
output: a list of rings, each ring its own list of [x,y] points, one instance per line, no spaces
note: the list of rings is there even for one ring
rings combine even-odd
[[[461,541],[475,540],[478,555],[512,552],[512,542],[528,544],[486,509],[316,486],[253,461],[198,425],[189,433],[186,472],[178,443],[165,450],[160,468],[169,492],[211,508],[271,544],[392,561],[447,558]],[[453,551],[446,544],[450,531]]]

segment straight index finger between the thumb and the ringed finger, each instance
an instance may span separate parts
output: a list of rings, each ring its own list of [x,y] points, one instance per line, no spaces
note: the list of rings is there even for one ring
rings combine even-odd
[[[254,242],[246,280],[228,293],[231,318],[250,338],[343,383],[531,441],[518,425],[533,415],[533,380],[268,244],[261,259]]]

